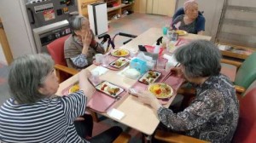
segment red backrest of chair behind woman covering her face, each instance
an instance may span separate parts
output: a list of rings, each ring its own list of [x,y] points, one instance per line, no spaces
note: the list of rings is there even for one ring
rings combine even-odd
[[[67,61],[64,57],[64,43],[70,35],[55,39],[55,41],[49,43],[46,47],[52,59],[55,60],[55,64],[61,66],[67,66]]]

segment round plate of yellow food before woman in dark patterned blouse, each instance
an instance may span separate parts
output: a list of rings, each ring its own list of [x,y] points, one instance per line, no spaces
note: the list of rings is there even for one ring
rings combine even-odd
[[[173,93],[173,89],[166,83],[152,83],[148,85],[148,91],[155,95],[158,99],[170,98]]]

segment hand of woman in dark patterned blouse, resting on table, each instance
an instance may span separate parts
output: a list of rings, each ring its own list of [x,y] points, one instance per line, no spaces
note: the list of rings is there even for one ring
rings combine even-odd
[[[154,109],[154,112],[157,112],[157,110],[161,106],[159,103],[159,100],[154,96],[154,94],[151,94],[148,91],[139,91],[138,100],[144,104],[148,104],[149,106],[152,106]]]

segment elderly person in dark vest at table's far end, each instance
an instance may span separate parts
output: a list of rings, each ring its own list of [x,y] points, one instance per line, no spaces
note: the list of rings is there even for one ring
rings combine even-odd
[[[183,12],[184,14],[172,20],[172,29],[202,35],[205,31],[206,20],[203,15],[199,14],[198,3],[195,0],[188,0],[184,3]],[[178,13],[181,13],[180,9]]]

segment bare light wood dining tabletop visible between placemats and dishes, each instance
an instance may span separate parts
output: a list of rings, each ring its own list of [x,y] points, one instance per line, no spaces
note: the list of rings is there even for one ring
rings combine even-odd
[[[136,38],[132,39],[131,42],[121,46],[119,49],[128,49],[129,51],[136,52],[138,50],[138,45],[153,45],[156,40],[162,36],[163,33],[160,28],[150,28],[147,31],[144,31],[142,34],[138,35]],[[211,37],[209,36],[195,35],[190,33],[182,36],[182,38],[189,40],[211,40]],[[91,66],[87,67],[87,69],[89,71],[92,71],[97,67],[98,65],[92,64]],[[131,87],[137,85],[137,79],[125,77],[120,74],[120,71],[110,69],[108,70],[108,72],[102,74],[100,76],[100,79],[102,81],[108,81],[109,83],[113,83],[115,85],[118,85],[119,87],[122,87],[123,89],[125,89],[126,93],[119,100],[114,100],[114,103],[111,104],[110,108],[108,107],[108,110],[106,112],[95,112],[101,114],[102,116],[109,117],[119,123],[125,124],[131,129],[137,129],[137,131],[146,134],[148,136],[147,139],[150,140],[150,136],[154,134],[154,130],[158,127],[160,120],[150,106],[144,105],[143,103],[138,101],[137,96],[134,96],[127,92],[127,89],[130,89]],[[66,81],[60,83],[60,87],[56,94],[64,94],[63,90],[67,90],[67,88],[74,83],[78,83],[78,80],[78,74],[76,74],[73,77],[68,78]],[[177,89],[182,82],[183,81],[180,80],[180,83],[176,87]],[[163,106],[170,106],[174,97],[175,93],[169,100],[166,101]],[[116,117],[109,116],[107,112],[112,109],[122,112],[124,117],[118,119]]]

